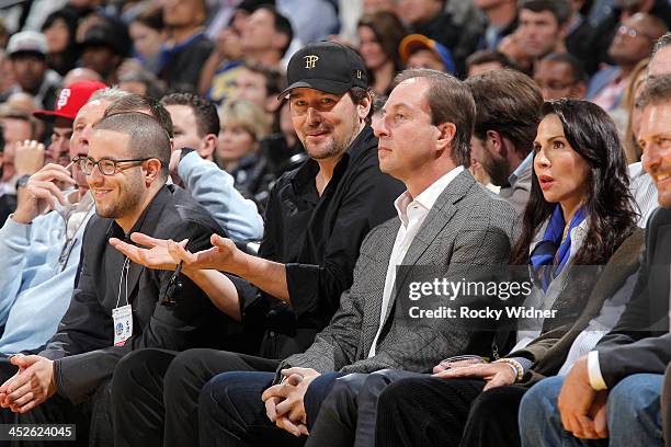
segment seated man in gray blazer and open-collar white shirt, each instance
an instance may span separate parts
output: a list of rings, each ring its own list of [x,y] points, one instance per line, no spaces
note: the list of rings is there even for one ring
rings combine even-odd
[[[204,387],[203,445],[298,445],[304,439],[289,433],[307,434],[336,377],[384,368],[429,371],[448,356],[491,353],[493,332],[476,331],[468,321],[412,321],[403,290],[428,271],[447,280],[487,280],[491,266],[507,264],[515,211],[464,169],[475,117],[466,85],[424,69],[402,72],[396,84],[373,128],[380,170],[407,187],[395,203],[399,218],[368,233],[352,287],[305,353],[284,359],[276,374],[230,369]]]

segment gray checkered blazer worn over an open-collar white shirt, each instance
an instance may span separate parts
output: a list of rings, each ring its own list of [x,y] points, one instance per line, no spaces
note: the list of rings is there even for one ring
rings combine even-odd
[[[427,268],[444,277],[460,279],[473,276],[468,276],[473,265],[507,264],[514,219],[512,205],[485,190],[465,170],[439,196],[402,265],[430,266]],[[453,355],[487,355],[484,351],[490,348],[493,331],[474,331],[467,321],[455,319],[437,319],[418,326],[403,313],[407,309],[398,305],[397,290],[402,290],[398,287],[387,307],[376,355],[368,358],[379,328],[387,266],[399,225],[396,217],[371,230],[362,243],[352,287],[341,295],[333,319],[305,353],[287,357],[281,369],[299,366],[319,373],[372,373],[385,368],[429,371]],[[402,276],[399,270],[397,286]]]

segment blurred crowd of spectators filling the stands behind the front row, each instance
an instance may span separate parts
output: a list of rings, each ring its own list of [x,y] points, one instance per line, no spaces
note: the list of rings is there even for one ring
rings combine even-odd
[[[283,70],[296,49],[322,39],[361,54],[378,104],[408,67],[458,78],[521,70],[546,100],[587,98],[606,110],[633,163],[632,111],[670,24],[667,0],[0,1],[0,208],[11,211],[16,180],[38,169],[18,172],[21,142],[42,141],[46,161],[69,162],[69,135],[39,111],[91,80],[161,100],[175,147],[215,161],[262,209],[273,181],[306,157],[276,99]],[[471,170],[489,184],[478,153]]]

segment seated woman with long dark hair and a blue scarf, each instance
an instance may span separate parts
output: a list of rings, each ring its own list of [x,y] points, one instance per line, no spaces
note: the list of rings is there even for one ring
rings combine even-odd
[[[531,196],[511,264],[531,272],[534,287],[523,306],[555,310],[555,318],[520,322],[515,346],[494,363],[443,362],[433,377],[389,385],[377,401],[376,445],[520,445],[522,396],[539,377],[557,375],[579,357],[572,358],[572,345],[587,326],[579,322],[601,314],[606,297],[592,288],[611,256],[621,245],[640,252],[613,121],[590,102],[567,99],[546,102],[541,116]],[[603,279],[600,286],[626,277]]]

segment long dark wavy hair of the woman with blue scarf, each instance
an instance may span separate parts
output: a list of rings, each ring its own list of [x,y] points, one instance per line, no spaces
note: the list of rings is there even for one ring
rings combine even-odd
[[[598,105],[561,99],[543,104],[541,116],[557,115],[566,139],[588,163],[588,192],[583,202],[589,228],[575,264],[603,265],[636,228],[637,211],[629,193],[624,150],[613,119]],[[555,204],[547,203],[532,171],[532,188],[524,210],[522,236],[512,264],[527,264],[534,234],[549,218]]]

